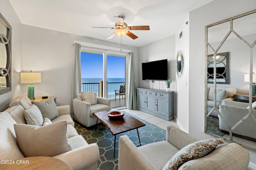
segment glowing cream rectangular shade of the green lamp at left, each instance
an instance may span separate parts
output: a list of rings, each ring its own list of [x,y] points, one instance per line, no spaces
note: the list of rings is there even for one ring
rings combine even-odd
[[[20,83],[40,83],[41,73],[40,72],[21,72]]]

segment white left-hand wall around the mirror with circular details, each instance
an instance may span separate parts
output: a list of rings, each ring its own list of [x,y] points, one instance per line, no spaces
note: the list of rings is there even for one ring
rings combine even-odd
[[[12,26],[12,91],[0,95],[0,111],[6,109],[13,98],[20,95],[22,70],[21,22],[8,0],[0,1],[0,13]]]

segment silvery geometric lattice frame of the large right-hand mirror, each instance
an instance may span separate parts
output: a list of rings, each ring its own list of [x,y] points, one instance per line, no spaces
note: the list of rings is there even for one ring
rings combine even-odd
[[[216,53],[218,51],[218,49],[220,49],[220,47],[222,46],[222,44],[225,42],[225,40],[228,38],[228,35],[233,32],[236,37],[238,37],[241,41],[243,41],[249,48],[250,48],[250,90],[249,90],[249,113],[248,115],[246,115],[246,117],[244,117],[243,119],[241,119],[234,127],[231,127],[230,128],[230,131],[229,131],[229,135],[230,135],[230,139],[226,139],[224,137],[224,140],[225,141],[229,141],[231,143],[238,143],[240,145],[242,145],[243,147],[247,148],[247,149],[250,149],[250,150],[254,150],[256,151],[255,148],[252,148],[248,145],[244,145],[242,143],[239,143],[237,141],[233,141],[233,135],[232,135],[232,130],[235,129],[240,123],[242,123],[245,119],[247,119],[248,117],[254,117],[252,115],[252,74],[253,74],[253,63],[252,63],[252,59],[253,59],[253,53],[252,53],[252,49],[254,47],[254,45],[256,44],[256,40],[252,43],[252,44],[249,44],[246,40],[243,39],[242,36],[240,36],[238,33],[236,33],[234,30],[233,30],[233,20],[234,19],[237,19],[237,18],[241,18],[243,16],[247,16],[247,15],[250,15],[250,14],[254,14],[256,13],[256,10],[252,10],[252,11],[249,11],[249,12],[246,12],[244,14],[240,14],[238,16],[234,16],[232,18],[228,18],[226,20],[222,20],[222,21],[219,21],[219,22],[216,22],[216,23],[212,23],[210,25],[206,25],[205,26],[205,56],[204,56],[204,59],[205,59],[205,91],[204,91],[204,94],[205,94],[205,100],[204,100],[204,133],[207,133],[209,135],[212,135],[214,137],[220,137],[219,135],[215,135],[214,133],[211,133],[209,131],[207,131],[207,117],[210,115],[210,113],[208,113],[207,111],[207,100],[208,100],[208,80],[207,80],[207,77],[208,77],[208,68],[207,68],[207,64],[208,64],[208,60],[207,60],[207,57],[208,57],[208,47],[210,50],[212,50],[212,52],[214,53],[214,63],[216,63]],[[210,45],[210,43],[208,43],[208,27],[212,27],[214,25],[218,25],[220,23],[224,23],[226,21],[230,21],[230,31],[226,34],[226,36],[224,37],[224,39],[222,40],[222,42],[220,43],[220,45],[217,47],[217,49],[213,49]],[[216,109],[216,111],[218,112],[218,115],[220,117],[222,117],[222,115],[220,114],[220,112],[218,111],[217,107],[216,107],[216,64],[214,64],[214,82],[213,82],[213,87],[214,87],[214,109]],[[255,119],[255,117],[254,117]]]

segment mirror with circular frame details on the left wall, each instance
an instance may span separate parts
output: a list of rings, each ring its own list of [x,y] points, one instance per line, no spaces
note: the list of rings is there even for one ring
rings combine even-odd
[[[12,27],[0,13],[0,95],[11,91]]]

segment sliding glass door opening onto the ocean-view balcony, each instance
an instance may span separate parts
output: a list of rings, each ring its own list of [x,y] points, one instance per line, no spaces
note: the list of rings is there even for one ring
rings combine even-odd
[[[81,50],[82,92],[112,99],[112,108],[126,106],[126,58],[101,49]]]

